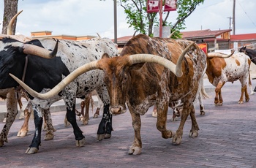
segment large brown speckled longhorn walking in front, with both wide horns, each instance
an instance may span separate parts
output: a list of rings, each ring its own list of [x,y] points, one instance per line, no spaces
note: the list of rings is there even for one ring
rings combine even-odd
[[[91,69],[101,69],[105,74],[104,81],[110,95],[110,112],[115,115],[126,112],[127,103],[135,130],[135,140],[129,148],[129,154],[140,154],[140,115],[144,115],[154,104],[157,104],[158,112],[157,129],[161,131],[163,138],[173,137],[173,144],[179,145],[188,115],[192,120],[189,137],[197,137],[199,127],[192,102],[206,72],[206,54],[191,41],[151,38],[140,34],[127,42],[120,56],[110,58],[105,54],[99,61],[80,66],[48,93],[36,93],[17,77],[12,77],[32,96],[48,99],[75,77],[83,72],[89,73]],[[169,102],[178,99],[184,104],[181,123],[174,134],[166,128],[167,109]]]

